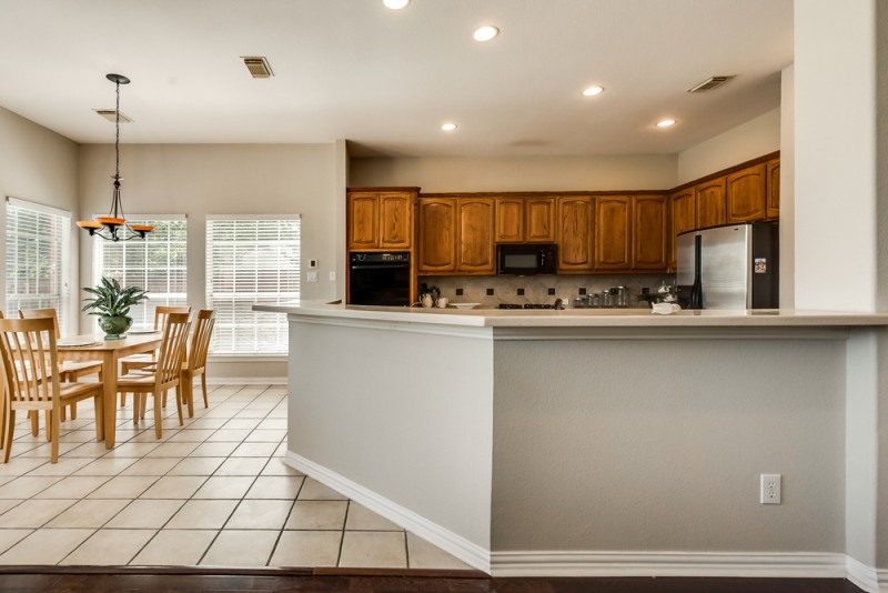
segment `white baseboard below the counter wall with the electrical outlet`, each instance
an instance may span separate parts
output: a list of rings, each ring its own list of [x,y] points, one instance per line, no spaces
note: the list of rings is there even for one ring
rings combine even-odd
[[[845,554],[805,552],[493,552],[493,576],[846,576]]]

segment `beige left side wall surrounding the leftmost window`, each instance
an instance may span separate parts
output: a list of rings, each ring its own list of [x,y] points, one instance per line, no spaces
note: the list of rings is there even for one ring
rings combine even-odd
[[[51,205],[77,213],[78,145],[37,123],[0,108],[0,194]],[[0,208],[0,228],[6,229],[6,205]],[[78,241],[71,232],[71,261],[78,258]],[[0,242],[6,261],[6,241]],[[78,292],[77,267],[68,278],[72,295]],[[6,274],[0,274],[0,294],[6,295]],[[6,296],[3,296],[6,308]],[[77,315],[71,299],[69,318]]]

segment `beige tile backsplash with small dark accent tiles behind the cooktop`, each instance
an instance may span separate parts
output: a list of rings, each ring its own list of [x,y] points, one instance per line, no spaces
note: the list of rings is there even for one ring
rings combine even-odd
[[[662,281],[675,283],[673,274],[613,275],[485,275],[485,277],[420,277],[420,282],[441,289],[441,295],[452,303],[481,303],[495,308],[500,303],[553,303],[564,299],[568,305],[575,296],[601,293],[612,287],[629,289],[629,306],[646,308],[635,296],[643,287],[656,292]]]

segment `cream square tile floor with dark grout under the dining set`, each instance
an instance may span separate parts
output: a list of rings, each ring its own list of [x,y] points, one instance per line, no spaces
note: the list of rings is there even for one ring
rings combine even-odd
[[[199,394],[199,389],[195,390]],[[0,464],[0,564],[471,569],[283,463],[286,391],[212,389],[163,438],[132,405],[118,444],[95,442],[91,402],[62,423],[60,458],[17,418]]]

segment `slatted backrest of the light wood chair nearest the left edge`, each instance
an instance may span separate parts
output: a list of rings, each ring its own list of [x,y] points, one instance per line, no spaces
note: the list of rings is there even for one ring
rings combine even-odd
[[[0,319],[0,351],[10,399],[49,408],[59,393],[59,359],[52,320]]]

